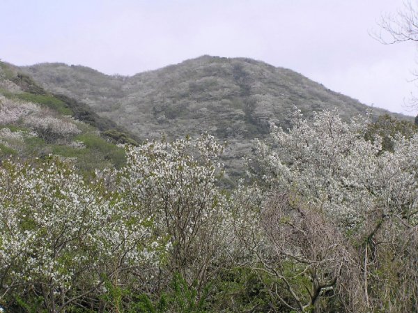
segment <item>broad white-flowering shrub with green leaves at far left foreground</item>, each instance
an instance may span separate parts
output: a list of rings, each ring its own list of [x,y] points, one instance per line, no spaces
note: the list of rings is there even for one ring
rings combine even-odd
[[[160,261],[153,222],[102,180],[86,183],[55,160],[3,162],[0,176],[0,301],[42,297],[61,312]]]

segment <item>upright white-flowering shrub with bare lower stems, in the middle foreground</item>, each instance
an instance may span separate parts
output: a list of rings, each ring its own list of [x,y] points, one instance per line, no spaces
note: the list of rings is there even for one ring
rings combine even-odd
[[[217,187],[222,151],[208,135],[127,147],[119,190],[155,222],[156,234],[168,237],[169,271],[181,273],[189,283],[205,282],[222,253],[227,219],[224,195]]]

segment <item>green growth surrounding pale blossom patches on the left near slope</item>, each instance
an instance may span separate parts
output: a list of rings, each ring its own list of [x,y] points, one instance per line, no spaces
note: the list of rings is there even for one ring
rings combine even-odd
[[[9,69],[6,64],[1,63],[1,66],[3,72],[5,69]],[[13,71],[10,70],[10,74],[13,74]],[[3,125],[7,126],[11,132],[22,131],[28,135],[23,134],[19,139],[20,141],[15,141],[14,145],[8,144],[6,146],[5,144],[1,144],[1,159],[17,154],[23,159],[35,156],[42,158],[52,153],[65,158],[74,158],[77,160],[77,167],[84,172],[109,166],[120,168],[125,165],[124,149],[118,148],[111,142],[137,145],[137,141],[123,128],[109,119],[98,116],[98,114],[82,102],[78,102],[67,96],[47,93],[28,75],[17,73],[9,78],[24,91],[0,90],[3,96],[11,100],[11,102],[8,102],[11,105],[19,107],[19,100],[32,102],[49,108],[50,110],[45,111],[45,117],[51,117],[54,121],[62,119],[64,123],[68,121],[68,118],[61,115],[70,115],[93,127],[78,123],[77,127],[82,130],[82,134],[79,137],[73,138],[73,134],[61,133],[60,129],[56,130],[54,127],[45,127],[45,124],[41,125],[41,123],[37,125],[36,121],[38,116],[32,115],[31,112],[25,113],[26,115],[24,114],[20,119],[17,119],[17,121],[10,125]],[[24,126],[24,121],[28,116],[33,121],[33,125],[29,128],[28,126]],[[70,121],[70,123],[74,124],[73,121]],[[93,134],[97,129],[102,132],[102,137]],[[29,135],[29,132],[32,130],[36,131],[37,135]],[[83,146],[73,144],[73,140],[83,142],[84,148]]]

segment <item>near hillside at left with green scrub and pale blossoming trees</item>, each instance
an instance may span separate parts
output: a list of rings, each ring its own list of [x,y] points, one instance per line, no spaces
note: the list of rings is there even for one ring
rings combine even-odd
[[[45,91],[19,68],[0,62],[0,160],[59,155],[82,171],[121,167],[118,142],[135,143],[116,123],[75,99]]]

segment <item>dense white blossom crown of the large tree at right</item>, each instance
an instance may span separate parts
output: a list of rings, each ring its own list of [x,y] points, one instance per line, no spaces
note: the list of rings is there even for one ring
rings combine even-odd
[[[297,192],[348,228],[376,212],[415,212],[418,135],[399,135],[393,152],[382,151],[381,137],[373,142],[364,137],[369,123],[367,116],[343,122],[335,111],[307,121],[296,111],[288,132],[272,125],[274,148],[258,143],[265,182]]]

